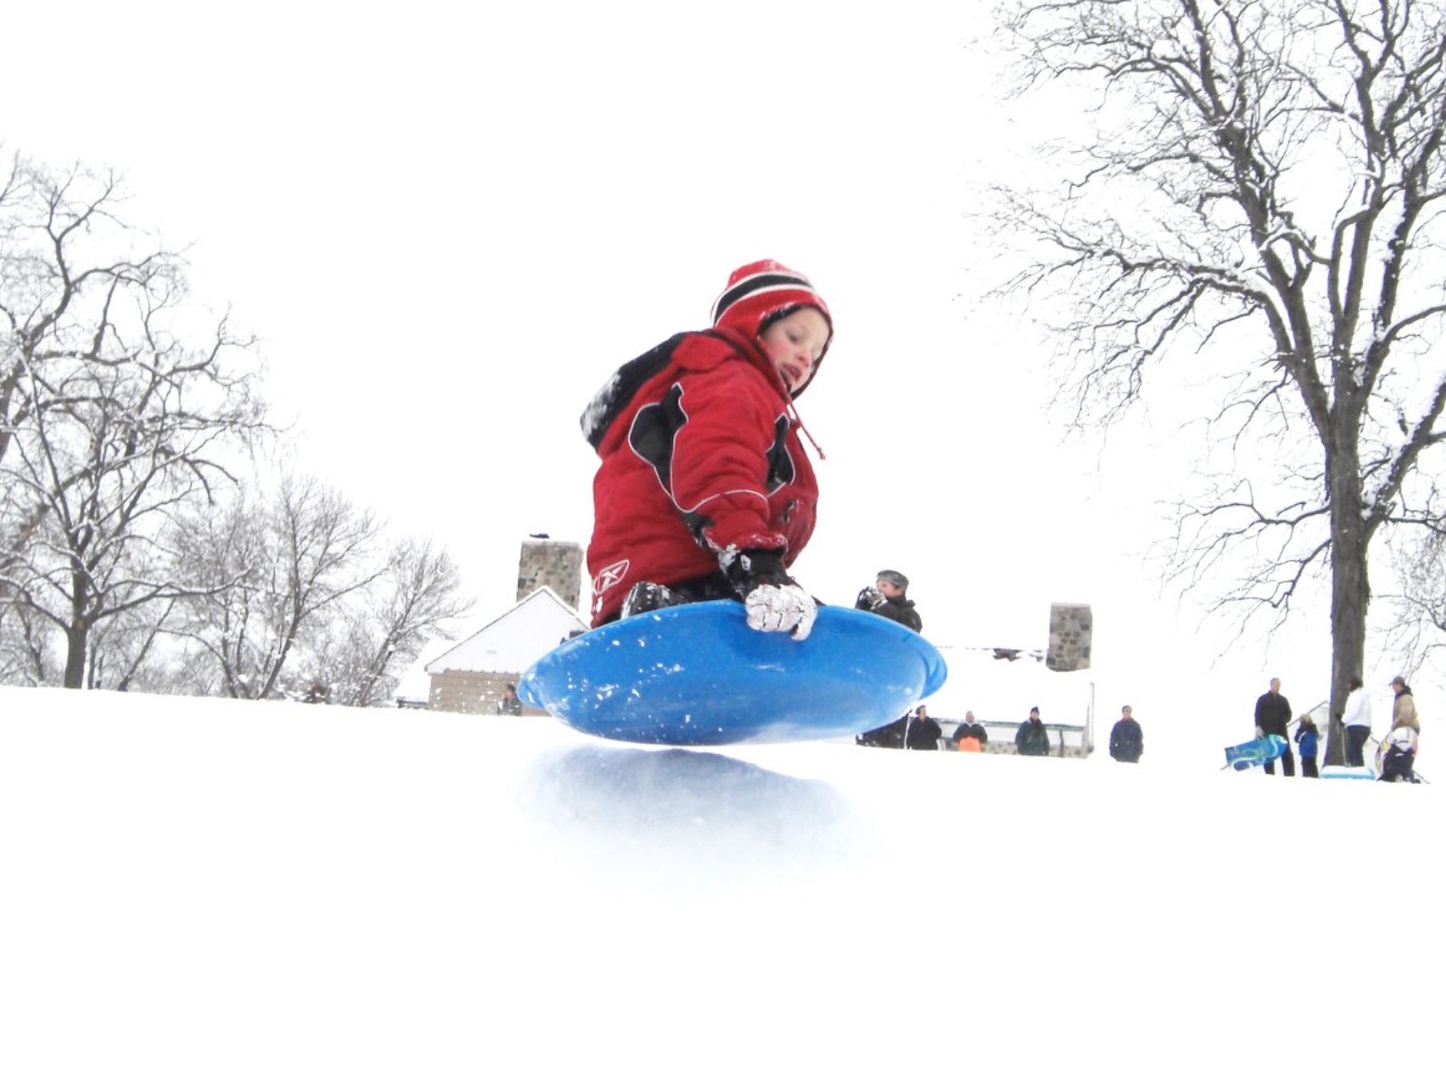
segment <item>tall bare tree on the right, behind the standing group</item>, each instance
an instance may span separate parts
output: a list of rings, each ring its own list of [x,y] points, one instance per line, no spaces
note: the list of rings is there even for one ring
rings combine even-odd
[[[1220,374],[1207,434],[1244,454],[1180,502],[1173,568],[1189,587],[1244,562],[1222,601],[1277,623],[1329,577],[1339,763],[1371,543],[1443,515],[1423,478],[1446,436],[1446,9],[1025,0],[1004,14],[1024,90],[1063,84],[1093,121],[1053,149],[1057,188],[1002,194],[1032,260],[1005,289],[1069,299],[1056,328],[1076,425],[1118,419],[1186,356]]]

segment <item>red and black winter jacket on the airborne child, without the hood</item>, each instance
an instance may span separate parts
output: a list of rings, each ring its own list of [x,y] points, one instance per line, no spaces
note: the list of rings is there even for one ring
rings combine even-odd
[[[813,533],[818,484],[774,363],[730,328],[674,335],[593,399],[593,624],[641,580],[717,574],[719,554],[772,549],[792,564]]]

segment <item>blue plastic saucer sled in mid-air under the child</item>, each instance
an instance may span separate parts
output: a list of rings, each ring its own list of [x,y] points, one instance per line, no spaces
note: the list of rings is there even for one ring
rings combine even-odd
[[[743,604],[613,621],[544,655],[518,697],[574,730],[655,746],[810,741],[907,714],[949,676],[902,624],[823,606],[807,640],[748,627]]]

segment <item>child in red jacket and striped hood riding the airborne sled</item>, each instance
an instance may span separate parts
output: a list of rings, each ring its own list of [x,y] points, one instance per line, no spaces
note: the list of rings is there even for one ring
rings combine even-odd
[[[759,632],[813,629],[788,567],[814,529],[818,486],[794,400],[833,341],[803,275],[739,267],[713,327],[629,361],[583,413],[602,464],[587,548],[593,626],[709,598],[740,598]]]

